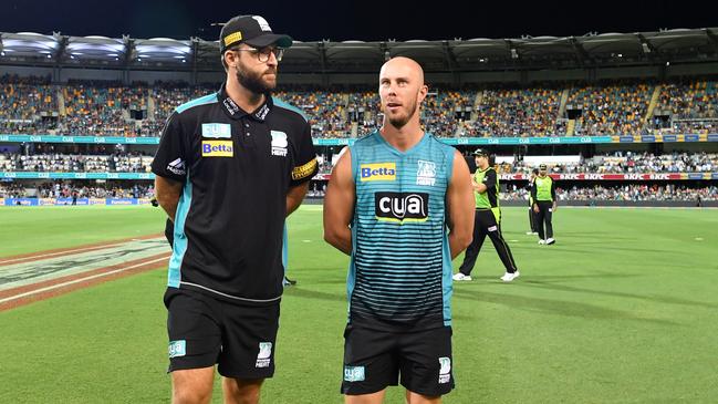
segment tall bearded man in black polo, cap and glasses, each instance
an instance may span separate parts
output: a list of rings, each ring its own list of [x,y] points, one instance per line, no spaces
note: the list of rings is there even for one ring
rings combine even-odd
[[[274,373],[284,219],[318,169],[300,110],[273,99],[287,35],[239,15],[219,38],[227,81],[171,114],[152,164],[174,222],[165,305],[173,403],[256,403]]]

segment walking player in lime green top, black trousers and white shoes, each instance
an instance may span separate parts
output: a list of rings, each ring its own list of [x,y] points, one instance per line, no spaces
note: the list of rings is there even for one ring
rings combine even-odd
[[[454,274],[456,281],[471,280],[471,270],[476,259],[481,251],[486,236],[489,236],[496,252],[506,268],[506,273],[500,278],[504,282],[511,282],[519,277],[519,270],[513,261],[511,249],[501,236],[501,210],[499,208],[499,177],[496,169],[489,166],[489,153],[482,148],[474,152],[476,160],[476,173],[471,178],[474,187],[474,199],[476,211],[474,215],[474,239],[466,249],[464,262],[459,271]]]

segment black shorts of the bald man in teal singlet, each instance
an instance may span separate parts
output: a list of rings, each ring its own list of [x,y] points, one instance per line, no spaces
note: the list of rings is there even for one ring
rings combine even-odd
[[[454,389],[451,328],[388,332],[346,325],[342,394],[371,394],[397,385],[426,396]]]

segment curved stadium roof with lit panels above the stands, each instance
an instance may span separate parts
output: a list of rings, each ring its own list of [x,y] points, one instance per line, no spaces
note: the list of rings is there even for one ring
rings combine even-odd
[[[219,71],[216,41],[0,33],[0,64],[170,71]],[[718,61],[718,28],[582,37],[295,42],[290,73],[375,72],[389,56],[410,56],[429,72],[563,69]]]

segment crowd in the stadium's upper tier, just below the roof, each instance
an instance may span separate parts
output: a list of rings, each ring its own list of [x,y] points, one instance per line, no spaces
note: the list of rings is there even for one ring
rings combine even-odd
[[[646,121],[660,85],[655,113]],[[175,107],[216,91],[216,84],[132,83],[0,76],[0,133],[158,136]],[[274,94],[308,115],[315,137],[357,136],[377,127],[374,89],[283,86]],[[562,105],[562,95],[565,103]],[[566,107],[580,110],[569,128]],[[716,133],[718,83],[605,82],[595,85],[529,89],[429,90],[423,122],[437,136],[593,136]]]

